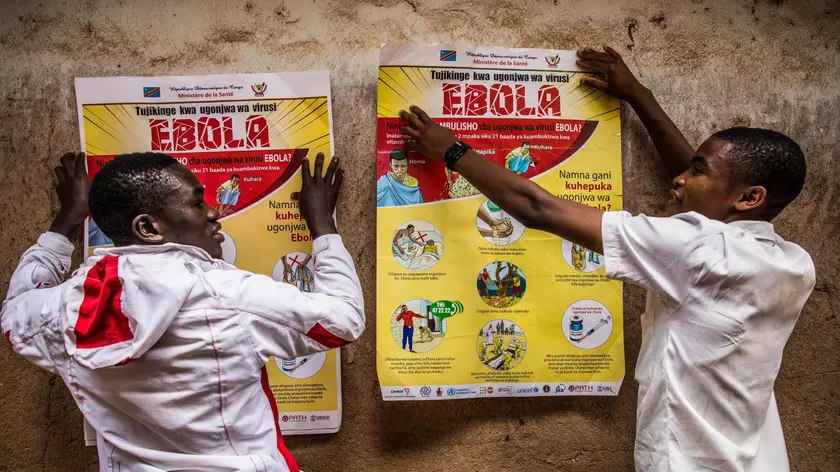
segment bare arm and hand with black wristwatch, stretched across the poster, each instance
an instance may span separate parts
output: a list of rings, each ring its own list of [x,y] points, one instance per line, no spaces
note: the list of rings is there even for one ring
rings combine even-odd
[[[403,110],[400,116],[410,124],[404,126],[402,132],[414,141],[406,143],[406,149],[440,161],[444,152],[457,141],[452,131],[435,123],[418,107],[411,107],[411,112]],[[523,225],[554,233],[602,253],[603,212],[600,210],[558,198],[474,151],[468,151],[458,159],[455,170]]]

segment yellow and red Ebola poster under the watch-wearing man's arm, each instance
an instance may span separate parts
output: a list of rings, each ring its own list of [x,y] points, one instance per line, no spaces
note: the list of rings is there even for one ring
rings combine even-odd
[[[619,102],[573,51],[384,45],[377,118],[377,370],[384,400],[617,395],[622,285],[405,151],[412,104],[560,198],[621,209]]]

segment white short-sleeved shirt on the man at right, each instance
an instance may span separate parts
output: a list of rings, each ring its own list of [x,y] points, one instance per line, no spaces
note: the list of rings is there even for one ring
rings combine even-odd
[[[814,287],[805,250],[761,221],[605,213],[607,277],[648,289],[636,470],[788,471],[773,383]]]

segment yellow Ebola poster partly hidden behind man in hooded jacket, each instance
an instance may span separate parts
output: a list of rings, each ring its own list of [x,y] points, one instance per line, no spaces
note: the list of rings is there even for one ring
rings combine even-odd
[[[309,292],[309,230],[291,198],[304,157],[332,155],[327,72],[76,79],[91,179],[115,156],[160,152],[190,169],[220,213],[223,259]],[[96,222],[85,251],[112,245]],[[263,386],[283,434],[338,431],[339,351],[272,359]]]

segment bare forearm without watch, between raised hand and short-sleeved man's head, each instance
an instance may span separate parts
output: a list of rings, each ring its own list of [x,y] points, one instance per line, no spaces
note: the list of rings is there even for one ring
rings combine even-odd
[[[650,135],[668,174],[673,178],[685,172],[694,156],[694,148],[656,101],[653,93],[643,88],[629,103]]]

